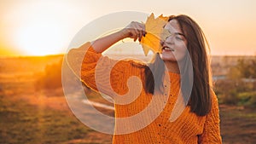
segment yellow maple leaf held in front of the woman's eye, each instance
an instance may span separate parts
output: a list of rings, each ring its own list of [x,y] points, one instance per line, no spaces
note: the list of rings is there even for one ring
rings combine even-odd
[[[147,32],[145,37],[142,37],[142,46],[145,55],[148,55],[149,50],[154,53],[160,52],[160,40],[166,39],[171,33],[164,29],[169,18],[162,14],[154,19],[154,14],[150,14],[145,23],[145,31]]]

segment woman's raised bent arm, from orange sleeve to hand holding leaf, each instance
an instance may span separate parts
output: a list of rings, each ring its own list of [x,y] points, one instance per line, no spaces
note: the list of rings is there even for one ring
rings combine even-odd
[[[143,24],[131,22],[119,32],[98,38],[91,43],[84,43],[77,49],[70,49],[67,54],[67,63],[90,89],[100,90],[107,95],[114,95],[114,92],[124,95],[125,89],[127,89],[126,81],[120,81],[120,79],[129,76],[127,69],[131,68],[133,61],[112,60],[108,56],[103,56],[102,52],[125,37],[140,41],[145,34],[143,30]],[[112,68],[113,66],[114,68]],[[96,67],[100,68],[96,71]]]

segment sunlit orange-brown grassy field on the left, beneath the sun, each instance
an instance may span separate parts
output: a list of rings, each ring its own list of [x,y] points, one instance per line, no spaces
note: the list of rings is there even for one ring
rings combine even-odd
[[[35,85],[38,80],[35,73],[60,57],[50,57],[48,63],[45,63],[45,58],[38,60],[38,68],[35,68],[34,61],[28,64],[26,59],[20,62],[26,69],[12,66],[20,60],[11,59],[10,65],[7,60],[2,60],[0,144],[111,143],[112,135],[91,130],[73,115],[61,88],[38,89]]]

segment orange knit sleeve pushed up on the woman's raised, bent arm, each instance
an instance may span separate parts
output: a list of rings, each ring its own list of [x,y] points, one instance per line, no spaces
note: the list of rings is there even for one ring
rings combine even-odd
[[[136,74],[133,60],[110,59],[97,53],[90,43],[69,50],[67,63],[86,86],[109,96],[125,95],[129,73]]]

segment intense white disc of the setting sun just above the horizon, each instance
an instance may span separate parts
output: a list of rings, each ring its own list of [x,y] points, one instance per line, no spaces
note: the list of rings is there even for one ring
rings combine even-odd
[[[16,39],[18,47],[25,55],[52,55],[60,53],[63,49],[61,37],[57,24],[37,20],[20,27]]]

